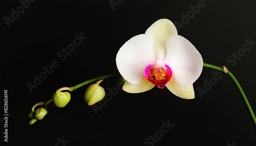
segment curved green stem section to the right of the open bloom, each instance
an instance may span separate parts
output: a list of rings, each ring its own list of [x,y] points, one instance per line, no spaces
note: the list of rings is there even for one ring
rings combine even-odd
[[[253,113],[253,110],[252,110],[252,108],[251,108],[251,106],[250,106],[250,103],[249,103],[249,101],[247,100],[246,95],[245,95],[245,93],[244,93],[242,87],[240,86],[238,80],[234,77],[234,75],[231,73],[231,71],[227,70],[227,68],[226,68],[225,66],[223,66],[223,68],[222,68],[222,67],[219,67],[219,66],[216,66],[216,65],[212,65],[212,64],[207,64],[207,63],[204,63],[203,66],[206,67],[206,68],[211,68],[211,69],[215,69],[215,70],[222,71],[222,72],[224,72],[228,77],[230,77],[230,79],[234,82],[234,84],[237,86],[239,92],[241,93],[242,98],[243,98],[243,100],[244,100],[244,102],[245,102],[245,104],[246,104],[246,106],[247,106],[247,108],[248,108],[248,110],[249,110],[250,115],[251,115],[252,121],[253,121],[253,123],[254,123],[254,125],[255,125],[255,127],[256,127],[256,117],[255,117],[255,115],[254,115],[254,113]]]

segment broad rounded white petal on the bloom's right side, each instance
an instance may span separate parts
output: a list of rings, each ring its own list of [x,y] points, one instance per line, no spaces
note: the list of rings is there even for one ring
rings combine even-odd
[[[173,78],[182,87],[193,84],[203,70],[203,58],[186,38],[172,35],[168,38],[164,62],[172,68]]]

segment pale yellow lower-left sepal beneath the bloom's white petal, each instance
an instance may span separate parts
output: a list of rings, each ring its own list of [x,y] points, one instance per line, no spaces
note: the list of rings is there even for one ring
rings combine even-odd
[[[150,81],[147,81],[146,79],[143,79],[141,83],[139,84],[131,84],[127,81],[123,84],[123,90],[129,93],[141,93],[148,91],[155,87],[155,84],[151,83]]]

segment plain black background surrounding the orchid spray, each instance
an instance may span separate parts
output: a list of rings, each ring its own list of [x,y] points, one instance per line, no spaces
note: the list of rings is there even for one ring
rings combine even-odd
[[[113,2],[117,2],[113,0]],[[95,114],[83,100],[88,85],[71,93],[70,103],[48,106],[44,119],[29,125],[31,107],[52,98],[65,86],[115,72],[115,57],[124,42],[142,34],[160,18],[181,23],[182,15],[199,1],[119,1],[112,9],[109,1],[35,1],[7,27],[19,1],[1,1],[1,91],[8,90],[7,145],[146,145],[162,121],[175,126],[154,145],[256,145],[256,128],[236,86],[223,76],[202,94],[205,81],[214,77],[204,68],[194,83],[196,98],[183,100],[167,90],[117,95]],[[245,39],[256,41],[255,1],[205,0],[205,7],[178,34],[192,42],[206,63],[226,65],[243,87],[256,112],[256,46],[235,65],[228,56],[243,49]],[[73,42],[74,34],[87,37],[67,59],[57,52]],[[52,74],[30,93],[27,83],[56,60]],[[116,78],[100,85],[115,87]],[[106,90],[106,92],[108,92]],[[1,100],[4,105],[4,98]],[[96,105],[99,105],[98,103]],[[4,114],[3,108],[1,117]],[[1,118],[3,119],[3,118]],[[4,121],[1,120],[1,138]],[[66,143],[57,143],[58,139]],[[68,141],[68,142],[67,142]]]

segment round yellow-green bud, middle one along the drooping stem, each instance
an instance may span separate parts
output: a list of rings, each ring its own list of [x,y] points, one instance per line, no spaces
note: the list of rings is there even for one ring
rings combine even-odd
[[[71,95],[69,92],[56,92],[53,95],[54,104],[59,107],[65,107],[71,99]]]

